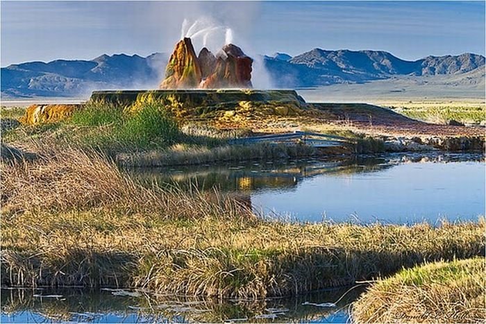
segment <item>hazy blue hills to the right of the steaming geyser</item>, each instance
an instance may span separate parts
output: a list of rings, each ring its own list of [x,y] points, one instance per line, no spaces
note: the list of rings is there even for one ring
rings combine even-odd
[[[384,51],[313,49],[290,60],[266,57],[265,65],[280,87],[318,87],[363,83],[391,76],[461,74],[484,67],[485,57],[464,53],[406,61]]]

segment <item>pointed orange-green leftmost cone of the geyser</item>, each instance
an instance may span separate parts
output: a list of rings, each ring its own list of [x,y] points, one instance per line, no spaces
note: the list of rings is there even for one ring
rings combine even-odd
[[[165,79],[160,89],[187,89],[199,87],[202,74],[199,60],[190,38],[185,37],[176,44],[169,64],[165,69]]]

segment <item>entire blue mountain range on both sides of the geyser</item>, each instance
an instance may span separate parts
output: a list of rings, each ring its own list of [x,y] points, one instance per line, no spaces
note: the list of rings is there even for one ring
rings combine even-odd
[[[26,62],[1,68],[3,97],[88,96],[94,89],[156,89],[169,56],[102,55],[93,60]],[[262,60],[274,87],[319,87],[340,83],[366,83],[396,76],[450,76],[484,78],[485,57],[428,56],[401,60],[385,51],[326,51],[312,49],[299,56],[275,53]],[[480,81],[478,81],[480,82]]]

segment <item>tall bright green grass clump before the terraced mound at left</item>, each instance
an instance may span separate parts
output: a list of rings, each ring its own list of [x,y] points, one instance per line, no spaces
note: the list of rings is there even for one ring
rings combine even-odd
[[[126,151],[163,149],[185,140],[165,106],[154,103],[133,113],[114,105],[88,103],[65,121],[25,125],[3,135],[6,142],[13,144],[39,140],[51,146],[95,148],[112,156]]]

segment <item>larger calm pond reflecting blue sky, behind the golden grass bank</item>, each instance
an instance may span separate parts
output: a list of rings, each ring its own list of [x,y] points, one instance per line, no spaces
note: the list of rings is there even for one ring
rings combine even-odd
[[[146,182],[219,189],[262,217],[410,224],[476,221],[485,214],[481,153],[387,154],[135,169]]]

